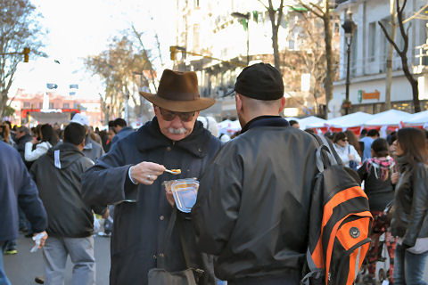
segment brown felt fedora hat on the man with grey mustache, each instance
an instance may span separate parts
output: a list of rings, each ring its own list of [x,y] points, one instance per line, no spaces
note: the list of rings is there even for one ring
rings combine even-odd
[[[175,112],[205,110],[216,102],[213,98],[203,98],[199,95],[198,77],[193,71],[165,69],[159,82],[158,93],[140,91],[140,94],[152,104]]]

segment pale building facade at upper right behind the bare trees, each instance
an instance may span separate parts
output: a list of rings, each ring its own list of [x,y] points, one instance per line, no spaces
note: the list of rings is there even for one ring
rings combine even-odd
[[[426,0],[407,1],[405,19],[414,16],[426,5]],[[343,22],[347,12],[351,12],[356,24],[350,45],[350,102],[352,111],[377,113],[384,110],[386,89],[386,59],[389,42],[383,34],[378,21],[390,29],[389,0],[348,0],[336,9]],[[418,81],[421,109],[428,107],[428,13],[423,11],[419,16],[405,24],[408,28],[407,59],[413,76]],[[411,23],[411,25],[409,25]],[[341,28],[341,59],[339,80],[333,85],[333,100],[343,102],[346,98],[347,45]],[[401,48],[404,41],[399,27],[395,42]],[[412,88],[405,77],[401,58],[394,52],[392,56],[391,108],[412,112]]]

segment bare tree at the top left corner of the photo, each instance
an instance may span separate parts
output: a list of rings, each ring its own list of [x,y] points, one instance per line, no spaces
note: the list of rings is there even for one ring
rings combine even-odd
[[[40,15],[29,0],[0,1],[0,118],[7,109],[8,93],[18,63],[23,61],[23,50],[29,47],[31,55],[45,55],[40,51],[44,34],[39,27]]]

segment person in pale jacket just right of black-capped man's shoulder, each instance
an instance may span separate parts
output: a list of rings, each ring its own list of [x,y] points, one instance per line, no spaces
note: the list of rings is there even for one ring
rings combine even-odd
[[[342,159],[346,167],[357,170],[361,163],[361,157],[355,150],[354,146],[348,142],[348,136],[343,132],[338,132],[333,135],[333,146],[339,157]]]

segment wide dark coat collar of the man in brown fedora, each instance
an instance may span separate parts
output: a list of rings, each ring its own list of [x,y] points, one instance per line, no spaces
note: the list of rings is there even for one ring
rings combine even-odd
[[[191,134],[181,141],[173,142],[161,133],[158,118],[154,117],[152,121],[147,122],[136,132],[136,147],[138,151],[143,152],[174,146],[203,158],[209,151],[210,136],[210,132],[203,128],[200,121],[196,120]]]

